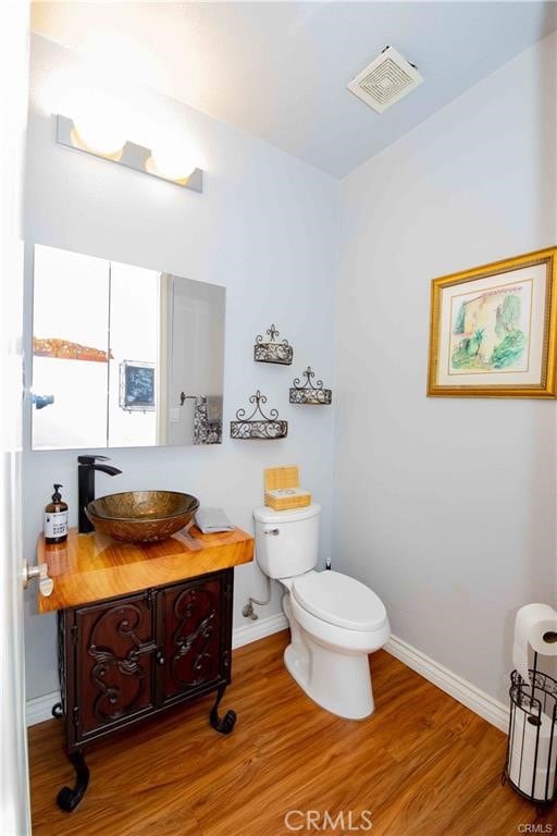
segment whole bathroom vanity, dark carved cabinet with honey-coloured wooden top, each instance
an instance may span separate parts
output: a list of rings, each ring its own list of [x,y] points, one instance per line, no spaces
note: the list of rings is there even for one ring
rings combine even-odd
[[[89,779],[84,749],[182,702],[215,692],[213,728],[228,734],[236,715],[219,716],[231,681],[234,566],[253,557],[240,529],[202,534],[193,527],[152,543],[123,543],[71,529],[67,542],[38,543],[53,581],[39,612],[58,611],[61,703],[74,788],[62,810],[82,800]]]

